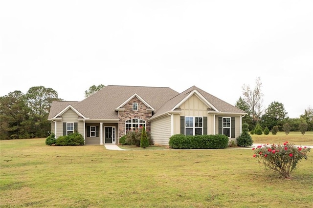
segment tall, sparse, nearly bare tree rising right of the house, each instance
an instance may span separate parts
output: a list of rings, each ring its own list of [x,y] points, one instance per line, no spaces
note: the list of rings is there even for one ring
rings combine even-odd
[[[246,84],[243,85],[242,89],[244,99],[251,110],[252,121],[256,124],[260,120],[263,103],[263,93],[261,91],[262,83],[260,77],[256,79],[255,83],[256,86],[253,90]]]

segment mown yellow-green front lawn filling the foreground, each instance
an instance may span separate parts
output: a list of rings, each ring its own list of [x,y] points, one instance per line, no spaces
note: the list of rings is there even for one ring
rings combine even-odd
[[[265,170],[252,154],[0,141],[0,207],[313,207],[312,154],[292,180]]]

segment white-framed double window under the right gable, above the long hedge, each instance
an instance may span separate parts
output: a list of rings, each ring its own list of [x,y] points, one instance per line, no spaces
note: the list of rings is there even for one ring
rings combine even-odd
[[[203,118],[185,117],[185,135],[202,135]]]

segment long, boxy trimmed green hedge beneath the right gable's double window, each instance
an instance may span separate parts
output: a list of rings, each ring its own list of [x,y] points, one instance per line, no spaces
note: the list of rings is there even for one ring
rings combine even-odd
[[[225,135],[185,136],[176,134],[170,137],[169,146],[173,149],[221,149],[227,148],[229,139]]]

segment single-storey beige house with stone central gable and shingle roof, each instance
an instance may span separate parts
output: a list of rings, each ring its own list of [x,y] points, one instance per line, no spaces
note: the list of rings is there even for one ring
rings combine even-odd
[[[168,87],[108,85],[80,102],[53,101],[48,120],[56,138],[77,130],[86,145],[118,144],[145,126],[156,145],[174,134],[241,134],[243,110],[196,86],[178,93]]]

